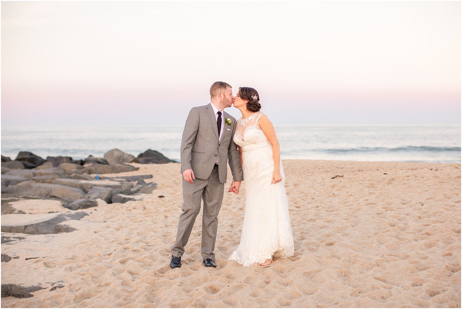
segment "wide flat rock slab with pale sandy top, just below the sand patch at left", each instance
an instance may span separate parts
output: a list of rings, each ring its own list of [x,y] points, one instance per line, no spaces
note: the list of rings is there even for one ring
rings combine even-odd
[[[73,228],[63,229],[64,225],[60,224],[67,220],[80,220],[88,216],[85,212],[65,212],[52,214],[9,214],[3,215],[1,220],[1,231],[3,233],[22,233],[22,234],[57,234],[63,230],[72,232]],[[57,226],[57,227],[56,227]]]

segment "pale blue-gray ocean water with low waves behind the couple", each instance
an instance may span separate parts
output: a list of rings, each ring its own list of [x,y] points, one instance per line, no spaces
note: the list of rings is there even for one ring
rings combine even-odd
[[[180,161],[183,125],[1,127],[1,154],[43,158],[102,157],[118,148],[135,157],[147,149]],[[461,162],[460,124],[275,125],[281,159]]]

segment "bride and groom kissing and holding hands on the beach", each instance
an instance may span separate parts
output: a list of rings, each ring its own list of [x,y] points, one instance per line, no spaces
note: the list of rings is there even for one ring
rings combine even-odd
[[[170,267],[181,267],[196,216],[202,211],[201,255],[206,267],[216,267],[215,240],[223,201],[227,167],[233,180],[228,192],[246,192],[241,242],[228,260],[243,266],[268,267],[273,257],[293,255],[292,227],[284,187],[285,174],[273,124],[263,114],[254,88],[239,87],[234,97],[229,84],[210,87],[210,103],[189,111],[181,140],[183,205]],[[234,105],[236,120],[224,111]]]

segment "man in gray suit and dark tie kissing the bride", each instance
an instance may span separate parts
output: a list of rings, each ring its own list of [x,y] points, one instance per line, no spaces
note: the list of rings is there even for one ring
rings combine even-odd
[[[188,243],[196,216],[202,211],[201,255],[206,267],[216,267],[215,240],[218,212],[223,201],[229,161],[233,182],[229,192],[238,194],[243,172],[237,145],[233,142],[236,119],[225,113],[234,97],[231,86],[216,81],[210,87],[208,105],[189,111],[181,140],[181,170],[183,174],[183,212],[178,222],[175,244],[172,246],[170,267],[181,267],[184,246]]]

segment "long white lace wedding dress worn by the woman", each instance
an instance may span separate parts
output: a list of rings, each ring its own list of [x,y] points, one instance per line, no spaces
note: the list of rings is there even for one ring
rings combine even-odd
[[[233,138],[242,148],[246,200],[241,242],[228,260],[235,260],[243,266],[293,255],[292,227],[284,187],[286,176],[280,163],[282,180],[271,184],[273,147],[258,124],[262,115],[259,111],[237,120]]]

